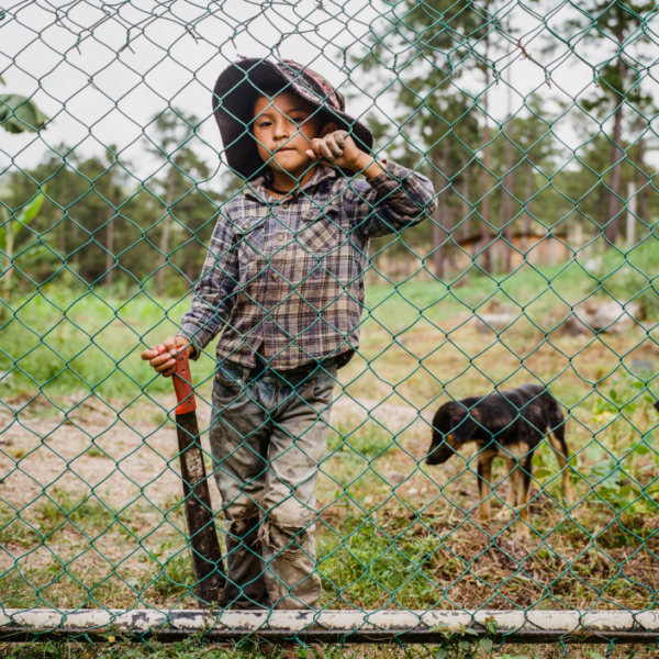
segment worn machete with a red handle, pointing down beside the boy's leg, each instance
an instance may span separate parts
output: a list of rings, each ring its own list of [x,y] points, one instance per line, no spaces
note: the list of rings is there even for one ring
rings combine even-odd
[[[165,350],[165,346],[159,346],[160,354]],[[212,604],[222,604],[226,578],[203,465],[196,412],[197,400],[186,348],[182,348],[176,356],[176,372],[172,380],[178,402],[176,429],[188,534],[194,567],[194,595],[200,600],[202,606],[211,606]]]

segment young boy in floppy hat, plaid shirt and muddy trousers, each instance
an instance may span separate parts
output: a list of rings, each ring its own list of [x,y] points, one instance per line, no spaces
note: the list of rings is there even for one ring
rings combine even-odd
[[[170,377],[178,349],[197,359],[222,332],[210,443],[234,608],[317,607],[314,487],[336,371],[359,347],[369,239],[436,206],[425,177],[369,155],[344,104],[291,60],[220,75],[215,119],[247,188],[223,208],[180,332],[142,355]]]

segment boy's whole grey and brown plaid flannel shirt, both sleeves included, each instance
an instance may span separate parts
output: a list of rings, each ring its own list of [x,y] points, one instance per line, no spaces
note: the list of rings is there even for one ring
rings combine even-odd
[[[259,348],[277,370],[349,360],[359,347],[369,239],[421,223],[437,203],[427,178],[382,165],[368,181],[319,165],[283,200],[260,177],[226,202],[181,320],[193,358],[223,332],[217,359],[246,367]]]

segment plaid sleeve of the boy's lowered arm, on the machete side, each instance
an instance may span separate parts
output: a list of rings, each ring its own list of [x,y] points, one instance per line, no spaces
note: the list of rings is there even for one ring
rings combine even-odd
[[[177,333],[193,344],[192,359],[199,358],[200,351],[226,324],[238,279],[233,223],[228,216],[221,216],[211,237],[201,277],[194,286],[190,311],[183,314]]]

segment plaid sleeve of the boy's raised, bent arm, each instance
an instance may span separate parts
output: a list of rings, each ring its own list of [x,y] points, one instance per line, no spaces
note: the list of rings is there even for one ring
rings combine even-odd
[[[380,165],[384,171],[368,181],[353,180],[346,194],[348,213],[364,239],[421,224],[437,210],[437,196],[425,176],[392,160]]]

